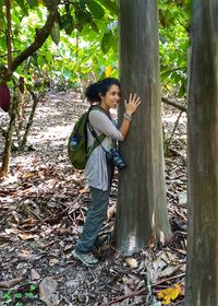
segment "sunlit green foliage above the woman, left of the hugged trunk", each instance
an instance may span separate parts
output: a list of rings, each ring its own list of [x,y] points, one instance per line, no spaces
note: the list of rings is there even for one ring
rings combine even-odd
[[[45,24],[47,9],[43,3],[46,1],[12,2],[13,58],[32,44],[37,31]],[[1,8],[0,64],[5,67],[7,17],[5,8]],[[110,66],[116,68],[111,74],[118,75],[118,23],[114,21],[117,13],[118,7],[114,1],[63,1],[63,4],[59,5],[56,30],[51,30],[51,37],[58,44],[59,26],[60,43],[56,46],[51,37],[48,38],[40,50],[29,56],[16,69],[16,73],[23,75],[26,81],[45,75],[45,79],[52,79],[57,83],[62,80],[75,83],[81,78],[88,79],[93,71],[98,76],[104,75],[107,66]]]

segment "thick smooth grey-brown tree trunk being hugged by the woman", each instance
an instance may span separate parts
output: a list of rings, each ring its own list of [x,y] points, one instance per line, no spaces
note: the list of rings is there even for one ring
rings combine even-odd
[[[117,245],[125,255],[153,236],[169,239],[158,59],[156,0],[120,0],[122,97],[137,93],[142,104],[122,145],[128,168],[119,175]],[[120,107],[123,114],[123,106]]]

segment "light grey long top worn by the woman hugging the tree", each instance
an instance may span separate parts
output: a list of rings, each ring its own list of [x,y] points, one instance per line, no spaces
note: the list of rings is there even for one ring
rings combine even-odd
[[[123,141],[123,137],[119,129],[116,127],[116,123],[112,122],[109,117],[104,114],[101,110],[93,109],[89,113],[89,122],[95,129],[97,134],[104,133],[106,138],[101,142],[101,145],[106,151],[109,151],[112,148],[112,140]],[[88,148],[94,144],[95,138],[87,128],[87,139]],[[85,166],[85,177],[88,186],[95,187],[101,190],[108,189],[108,170],[107,170],[107,161],[106,152],[102,146],[98,145],[92,152],[86,166]]]

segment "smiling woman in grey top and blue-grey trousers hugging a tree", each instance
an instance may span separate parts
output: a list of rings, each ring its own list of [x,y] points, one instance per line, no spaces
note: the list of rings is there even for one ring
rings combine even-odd
[[[110,108],[117,108],[120,103],[120,83],[117,79],[107,78],[86,90],[86,97],[90,103],[98,103],[88,115],[88,120],[97,136],[105,136],[102,142],[92,152],[86,166],[85,177],[92,192],[92,201],[88,204],[86,222],[83,234],[77,242],[72,256],[84,264],[92,267],[98,263],[98,259],[92,254],[95,240],[101,229],[107,215],[111,179],[114,163],[108,157],[107,152],[114,148],[116,141],[123,141],[130,129],[132,115],[135,113],[141,101],[136,95],[130,94],[129,101],[124,101],[125,113],[118,129],[110,116]],[[95,142],[87,125],[88,148]]]

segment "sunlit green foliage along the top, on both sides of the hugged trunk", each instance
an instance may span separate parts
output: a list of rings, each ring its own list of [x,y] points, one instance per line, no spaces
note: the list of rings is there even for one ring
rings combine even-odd
[[[26,49],[48,15],[49,1],[12,1],[13,58]],[[0,4],[4,1],[0,0]],[[17,69],[25,81],[78,86],[81,80],[118,76],[118,11],[116,0],[62,1],[56,34]],[[0,66],[7,66],[5,8],[0,5]],[[184,95],[189,47],[190,0],[160,0],[160,64],[165,90]],[[57,26],[59,25],[59,33]],[[56,40],[56,43],[52,42]],[[58,45],[56,45],[58,44]]]

